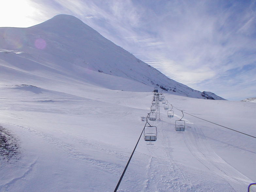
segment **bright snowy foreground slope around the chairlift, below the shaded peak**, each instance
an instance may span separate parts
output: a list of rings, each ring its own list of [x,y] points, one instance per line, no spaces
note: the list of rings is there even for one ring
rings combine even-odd
[[[99,73],[102,74],[102,73]],[[93,85],[0,87],[0,126],[18,143],[0,159],[0,191],[113,191],[144,127],[152,92]],[[169,104],[256,136],[256,104],[164,94]],[[140,139],[118,191],[247,191],[256,181],[256,139],[184,116],[161,120],[154,145]],[[252,191],[255,188],[251,187]]]

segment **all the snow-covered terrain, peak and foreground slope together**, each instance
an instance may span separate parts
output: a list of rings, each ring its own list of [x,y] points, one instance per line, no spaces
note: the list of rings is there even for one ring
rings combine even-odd
[[[0,35],[0,192],[113,191],[153,80],[176,86],[163,91],[174,116],[160,102],[161,120],[150,121],[157,141],[142,135],[119,192],[241,192],[256,181],[255,103],[191,98],[212,94],[168,79],[72,16]]]

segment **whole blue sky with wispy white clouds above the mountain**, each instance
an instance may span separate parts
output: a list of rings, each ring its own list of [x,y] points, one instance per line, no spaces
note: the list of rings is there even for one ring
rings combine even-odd
[[[256,1],[3,2],[2,27],[29,27],[57,14],[70,14],[191,88],[229,100],[256,97]]]

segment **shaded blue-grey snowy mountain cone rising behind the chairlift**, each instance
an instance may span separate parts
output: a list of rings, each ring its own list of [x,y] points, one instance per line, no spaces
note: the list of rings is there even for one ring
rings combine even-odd
[[[111,80],[113,77],[97,75],[95,81],[87,75],[100,72],[121,77],[123,82],[137,82],[136,88],[127,87],[128,83],[119,86],[123,90],[151,91],[152,87],[158,86],[176,95],[224,100],[212,92],[200,92],[168,78],[70,15],[57,15],[28,28],[1,27],[0,37],[1,75],[6,80],[13,70],[17,77],[23,76],[21,73],[28,75],[26,82],[16,78],[18,81],[13,84],[20,84],[19,80],[31,84],[29,79],[36,76],[51,78],[61,75],[59,79],[65,76],[75,81],[97,82],[108,88],[111,84],[116,88],[113,85],[116,83]]]

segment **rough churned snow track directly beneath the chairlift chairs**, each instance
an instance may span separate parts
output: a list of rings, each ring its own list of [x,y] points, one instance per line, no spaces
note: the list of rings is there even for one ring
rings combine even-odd
[[[181,192],[193,191],[189,177],[182,171],[171,155],[170,139],[165,130],[161,127],[163,123],[158,123],[158,137],[161,137],[160,147],[149,145],[150,160],[147,166],[147,180],[143,188],[146,192]],[[160,140],[160,139],[159,139]],[[162,151],[165,157],[157,157],[154,152]]]

